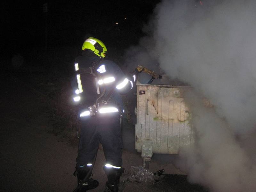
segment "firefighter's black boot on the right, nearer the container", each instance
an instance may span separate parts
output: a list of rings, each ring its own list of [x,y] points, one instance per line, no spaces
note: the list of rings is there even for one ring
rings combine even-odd
[[[103,170],[106,172],[106,175],[108,177],[108,181],[106,182],[106,188],[109,189],[111,192],[117,192],[123,169],[108,168],[104,166]]]

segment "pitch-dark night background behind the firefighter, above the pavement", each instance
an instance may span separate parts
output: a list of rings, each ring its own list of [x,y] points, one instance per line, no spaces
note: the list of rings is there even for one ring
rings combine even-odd
[[[107,46],[108,59],[123,68],[125,50],[137,45],[145,35],[143,26],[158,2],[4,0],[1,2],[0,73],[4,78],[9,76],[9,82],[18,79],[43,93],[50,103],[50,132],[62,135],[63,130],[68,130],[72,136],[76,129],[76,106],[70,77],[84,40],[90,36],[100,39]],[[43,9],[45,3],[47,12]],[[2,83],[8,81],[4,79]],[[136,88],[123,98],[126,118],[133,124],[134,92]]]

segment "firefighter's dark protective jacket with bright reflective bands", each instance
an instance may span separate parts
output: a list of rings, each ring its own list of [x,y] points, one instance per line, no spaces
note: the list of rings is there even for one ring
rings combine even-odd
[[[116,63],[110,60],[100,60],[99,57],[95,56],[79,56],[75,59],[75,64],[78,64],[79,70],[89,67],[93,67],[95,69],[95,73],[98,76],[97,81],[102,82],[102,84],[98,84],[100,92],[102,93],[105,91],[103,99],[107,97],[107,104],[100,103],[101,106],[116,107],[120,112],[124,110],[120,94],[129,92],[133,87],[133,83],[129,77],[124,75],[123,71],[118,67],[118,65],[116,65]],[[81,74],[80,78],[83,92],[82,94],[76,94],[75,90],[78,89],[76,75],[77,74],[73,76],[71,85],[74,90],[74,96],[80,95],[82,98],[81,101],[78,101],[81,103],[79,110],[82,111],[95,104],[96,99],[99,97],[96,86],[96,83],[98,82],[95,82],[95,77],[90,74]],[[111,82],[106,81],[108,79],[111,79]]]

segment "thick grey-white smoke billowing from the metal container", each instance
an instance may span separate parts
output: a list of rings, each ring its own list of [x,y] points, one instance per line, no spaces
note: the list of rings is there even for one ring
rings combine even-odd
[[[255,191],[256,1],[201,2],[158,4],[135,58],[153,58],[196,87],[187,101],[196,144],[179,162],[189,180],[216,192]],[[196,99],[202,95],[213,108]]]

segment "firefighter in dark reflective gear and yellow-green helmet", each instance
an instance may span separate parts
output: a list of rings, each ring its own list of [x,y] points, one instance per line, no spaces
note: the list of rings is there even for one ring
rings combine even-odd
[[[112,61],[105,60],[107,48],[99,39],[84,41],[82,56],[75,59],[74,101],[79,103],[81,122],[76,174],[78,184],[88,190],[99,185],[91,176],[101,143],[106,158],[103,170],[107,190],[118,191],[122,175],[122,117],[124,105],[120,94],[129,92],[132,80]],[[85,178],[88,176],[88,178]]]

